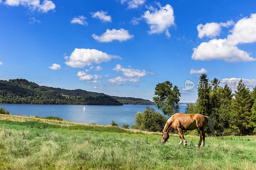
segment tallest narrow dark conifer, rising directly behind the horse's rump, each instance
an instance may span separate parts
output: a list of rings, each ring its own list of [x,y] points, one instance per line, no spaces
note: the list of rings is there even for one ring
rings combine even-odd
[[[197,87],[197,94],[198,94],[198,107],[199,113],[205,116],[210,116],[211,114],[211,107],[210,107],[210,85],[209,79],[207,79],[207,75],[201,74],[199,78],[199,83]]]

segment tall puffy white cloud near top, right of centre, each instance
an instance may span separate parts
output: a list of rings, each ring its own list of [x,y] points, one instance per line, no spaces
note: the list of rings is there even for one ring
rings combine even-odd
[[[150,25],[150,34],[165,32],[167,37],[170,37],[168,28],[174,23],[173,8],[170,4],[166,4],[164,7],[160,7],[159,10],[150,13],[146,11],[142,17],[146,20],[146,23]]]

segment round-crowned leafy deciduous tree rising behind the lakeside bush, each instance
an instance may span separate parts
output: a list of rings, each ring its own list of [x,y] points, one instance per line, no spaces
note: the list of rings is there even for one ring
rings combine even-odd
[[[180,90],[176,85],[172,86],[170,81],[158,83],[155,88],[155,95],[153,100],[156,107],[161,109],[164,115],[171,116],[179,112]]]

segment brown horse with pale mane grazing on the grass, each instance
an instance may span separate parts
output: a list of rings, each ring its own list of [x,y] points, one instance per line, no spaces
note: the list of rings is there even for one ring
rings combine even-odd
[[[180,136],[180,143],[182,144],[182,139],[184,141],[184,146],[187,146],[187,141],[185,140],[183,136],[182,130],[194,130],[194,129],[199,129],[201,134],[200,134],[200,141],[196,145],[196,147],[204,147],[204,129],[206,126],[209,126],[212,135],[215,136],[214,134],[214,129],[213,129],[213,121],[210,117],[200,115],[200,114],[191,114],[191,115],[186,115],[182,113],[176,113],[172,115],[166,122],[164,130],[162,131],[162,144],[164,144],[168,138],[169,138],[169,131],[173,127],[174,129],[177,129],[179,132]],[[203,140],[203,144],[201,145]]]

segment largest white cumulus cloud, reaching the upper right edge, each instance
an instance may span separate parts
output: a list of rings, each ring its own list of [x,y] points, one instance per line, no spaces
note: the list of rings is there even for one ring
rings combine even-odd
[[[197,48],[193,48],[192,59],[213,60],[223,59],[228,62],[255,61],[250,53],[236,47],[239,43],[252,43],[256,41],[256,14],[250,18],[240,19],[231,30],[231,34],[225,39],[212,39],[202,42]]]

